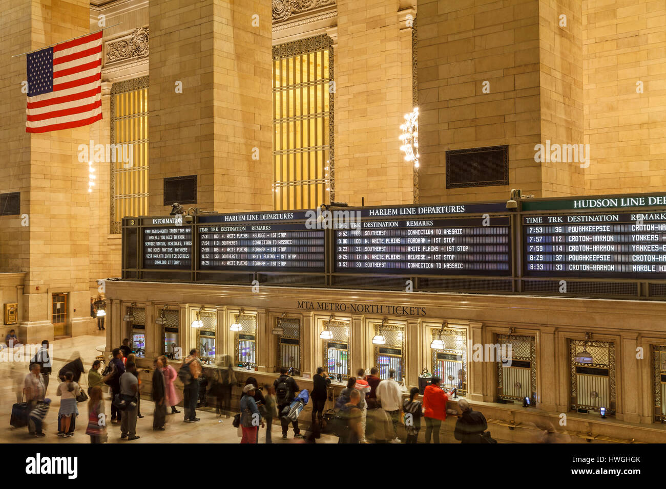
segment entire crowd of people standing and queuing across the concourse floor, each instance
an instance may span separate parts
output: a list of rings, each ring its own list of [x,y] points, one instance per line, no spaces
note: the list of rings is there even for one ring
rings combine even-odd
[[[30,371],[23,381],[27,424],[29,432],[35,436],[45,436],[43,422],[51,405],[51,399],[46,397],[51,376],[48,348],[49,342],[43,341],[41,351],[33,357]],[[179,414],[180,410],[176,406],[181,401],[183,421],[200,421],[196,416],[196,408],[202,385],[209,387],[208,396],[214,399],[216,414],[220,418],[223,415],[229,417],[236,373],[228,357],[224,360],[224,367],[212,371],[216,377],[204,379],[202,362],[198,359],[196,349],[189,352],[177,371],[168,364],[165,356],[157,357],[153,362],[151,379],[151,397],[155,405],[153,430],[165,430],[167,414]],[[121,439],[139,439],[137,420],[144,417],[141,414],[142,382],[129,340],[124,339],[120,347],[113,349],[109,365],[103,372],[100,372],[101,366],[101,361],[97,359],[91,365],[87,372],[88,387],[85,392],[80,381],[86,372],[76,353],[60,369],[57,375],[60,383],[56,389],[56,395],[61,398],[57,435],[65,438],[73,436],[79,415],[78,405],[86,402],[86,434],[92,443],[107,440],[107,416],[103,399],[103,386],[107,385],[111,395],[109,422],[120,425]],[[176,379],[184,386],[183,395],[174,385]],[[449,399],[438,377],[430,379],[422,395],[417,387],[413,387],[404,397],[403,387],[398,383],[394,370],[388,371],[388,378],[380,379],[376,367],[370,369],[368,375],[365,375],[364,369],[359,369],[356,377],[348,379],[332,408],[326,409],[330,382],[328,373],[322,367],[316,369],[312,378],[312,391],[309,393],[300,390],[296,379],[289,375],[286,368],[280,369],[280,376],[270,385],[259,385],[254,377],[248,377],[238,405],[240,412],[234,417],[234,426],[242,434],[241,443],[257,443],[260,430],[264,428],[266,443],[271,443],[271,428],[275,418],[280,422],[283,440],[288,438],[291,426],[294,439],[305,442],[316,442],[322,432],[327,432],[337,436],[340,443],[416,443],[425,425],[425,442],[440,443],[440,431],[442,422],[446,421]],[[312,417],[308,430],[302,433],[298,415],[308,400]],[[454,429],[456,440],[463,443],[494,442],[486,431],[488,424],[482,413],[472,409],[466,399],[460,399],[458,407],[462,414],[458,416]]]

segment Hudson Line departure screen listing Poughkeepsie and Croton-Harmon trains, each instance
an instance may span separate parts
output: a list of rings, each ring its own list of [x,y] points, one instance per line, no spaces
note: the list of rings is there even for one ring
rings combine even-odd
[[[666,212],[523,216],[525,275],[666,278]]]

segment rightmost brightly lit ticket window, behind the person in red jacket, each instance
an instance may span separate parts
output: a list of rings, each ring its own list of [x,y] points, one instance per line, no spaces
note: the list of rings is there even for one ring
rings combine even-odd
[[[442,387],[467,395],[467,331],[446,327],[431,332],[432,375],[442,379]]]

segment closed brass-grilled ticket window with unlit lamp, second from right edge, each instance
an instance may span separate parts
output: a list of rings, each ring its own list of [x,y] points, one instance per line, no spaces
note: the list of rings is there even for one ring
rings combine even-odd
[[[615,343],[569,340],[571,409],[615,414]]]

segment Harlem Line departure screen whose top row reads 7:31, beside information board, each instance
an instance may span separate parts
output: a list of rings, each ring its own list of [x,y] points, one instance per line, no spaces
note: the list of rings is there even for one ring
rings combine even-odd
[[[199,268],[324,271],[324,230],[300,224],[233,224],[198,228]]]

